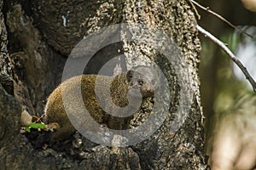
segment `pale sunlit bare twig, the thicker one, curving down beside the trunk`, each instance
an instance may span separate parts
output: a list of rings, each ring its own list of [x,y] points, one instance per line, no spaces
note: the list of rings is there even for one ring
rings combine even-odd
[[[197,30],[200,31],[202,34],[204,34],[205,36],[209,37],[212,42],[215,42],[218,44],[218,46],[220,48],[222,48],[224,50],[224,52],[226,52],[226,54],[228,54],[230,56],[230,59],[232,59],[234,61],[234,63],[236,63],[236,65],[241,69],[241,71],[243,72],[243,74],[245,75],[245,77],[247,78],[247,80],[251,83],[252,87],[253,87],[253,92],[256,93],[256,82],[254,82],[253,77],[251,77],[251,75],[249,74],[249,72],[247,71],[247,68],[242,65],[241,61],[239,59],[236,58],[236,55],[233,54],[229,48],[227,48],[227,46],[225,46],[224,42],[221,42],[220,40],[218,40],[217,37],[214,37],[210,32],[204,30],[201,26],[196,26]]]

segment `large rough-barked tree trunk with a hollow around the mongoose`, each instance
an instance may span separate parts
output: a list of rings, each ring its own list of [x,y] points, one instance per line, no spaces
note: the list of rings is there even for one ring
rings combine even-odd
[[[187,1],[0,0],[0,8],[1,169],[207,169],[198,78],[201,44]],[[85,38],[85,46],[76,46],[99,30],[100,38]],[[79,133],[57,144],[40,132],[20,134],[21,111],[43,114],[47,96],[68,67],[68,55],[76,50],[93,55],[86,73],[97,73],[111,59],[111,68],[152,63],[160,68],[168,85],[166,96],[160,95],[164,106],[148,111],[146,101],[143,114],[130,122],[140,127],[152,115],[164,116],[147,129],[160,123],[154,133],[134,144],[128,139],[125,147],[99,145]],[[125,57],[115,58],[120,54]]]

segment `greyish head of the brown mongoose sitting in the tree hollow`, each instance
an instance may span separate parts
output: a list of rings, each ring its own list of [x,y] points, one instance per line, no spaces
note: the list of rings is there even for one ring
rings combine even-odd
[[[127,71],[126,78],[129,89],[137,88],[143,97],[154,96],[154,91],[160,83],[157,71],[150,66],[137,66]]]

